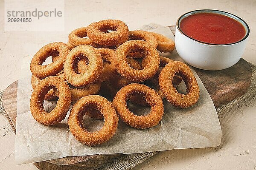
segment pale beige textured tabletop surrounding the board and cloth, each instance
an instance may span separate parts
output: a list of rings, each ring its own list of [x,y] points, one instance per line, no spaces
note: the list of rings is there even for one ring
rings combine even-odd
[[[55,41],[67,42],[74,28],[97,20],[119,19],[130,29],[143,24],[175,25],[177,18],[194,9],[212,8],[231,12],[250,26],[250,37],[243,58],[256,64],[256,0],[108,0],[65,1],[65,31],[4,32],[4,1],[0,0],[0,90],[18,79],[20,63],[32,57],[41,46]],[[222,143],[217,148],[160,152],[134,170],[256,169],[256,100],[220,117]],[[36,170],[32,164],[14,165],[15,135],[0,115],[0,169]]]

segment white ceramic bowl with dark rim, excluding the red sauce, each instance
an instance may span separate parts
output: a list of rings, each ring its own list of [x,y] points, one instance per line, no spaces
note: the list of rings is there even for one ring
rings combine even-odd
[[[238,42],[225,45],[215,45],[194,40],[191,37],[183,34],[179,25],[183,18],[196,13],[217,13],[231,17],[244,26],[246,31],[245,36]],[[231,67],[239,61],[242,54],[244,53],[249,32],[250,29],[247,23],[245,23],[244,20],[237,17],[236,15],[224,11],[208,9],[190,11],[180,16],[177,20],[175,31],[175,47],[180,57],[184,59],[184,61],[189,65],[204,70],[222,70]]]

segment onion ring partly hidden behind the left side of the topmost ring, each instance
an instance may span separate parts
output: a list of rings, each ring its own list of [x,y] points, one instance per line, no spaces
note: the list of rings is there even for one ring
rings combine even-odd
[[[68,42],[73,45],[73,48],[79,45],[91,45],[95,48],[101,48],[102,45],[96,44],[87,37],[87,27],[81,27],[73,30],[68,36]]]

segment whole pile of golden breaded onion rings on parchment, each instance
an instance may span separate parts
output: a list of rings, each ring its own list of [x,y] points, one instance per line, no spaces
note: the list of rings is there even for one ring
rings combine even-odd
[[[119,118],[136,129],[157,126],[164,114],[163,98],[178,108],[198,101],[198,83],[190,68],[159,55],[158,51],[172,52],[175,47],[161,34],[129,31],[120,20],[102,20],[73,30],[68,38],[67,43],[45,45],[30,63],[34,89],[30,110],[43,125],[61,122],[71,106],[70,132],[81,143],[95,146],[111,139]],[[44,64],[48,57],[52,62]],[[182,81],[186,94],[176,89]],[[44,100],[57,101],[49,113]],[[127,102],[151,111],[135,115]],[[104,120],[102,129],[89,132],[83,125],[84,115]]]

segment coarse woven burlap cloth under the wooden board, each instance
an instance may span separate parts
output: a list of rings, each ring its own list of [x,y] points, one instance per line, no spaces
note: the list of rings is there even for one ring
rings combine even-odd
[[[217,108],[218,116],[220,116],[221,114],[224,114],[229,110],[241,109],[243,108],[244,105],[247,105],[247,103],[256,99],[256,80],[255,80],[256,65],[253,65],[251,63],[249,64],[251,65],[253,70],[252,82],[250,84],[249,90],[243,96],[227,103],[226,105],[223,105]],[[7,119],[9,119],[8,115],[6,114],[3,108],[2,96],[3,96],[3,91],[0,91],[0,113],[6,116]],[[150,158],[151,156],[154,156],[156,153],[157,152],[127,154],[116,159],[115,161],[105,164],[105,166],[100,167],[99,169],[100,170],[113,170],[113,169],[114,170],[130,170],[131,168],[137,166],[138,164]]]

